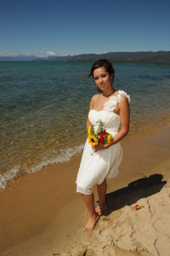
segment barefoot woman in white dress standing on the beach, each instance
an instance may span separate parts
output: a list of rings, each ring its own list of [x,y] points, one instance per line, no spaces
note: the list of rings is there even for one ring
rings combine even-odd
[[[93,76],[94,82],[101,94],[92,97],[87,129],[94,127],[97,133],[99,120],[104,123],[103,129],[112,135],[110,144],[99,143],[90,145],[88,140],[82,154],[82,162],[77,174],[77,192],[82,194],[87,205],[89,218],[84,231],[94,229],[99,219],[99,212],[107,209],[105,203],[106,179],[113,179],[118,174],[118,166],[122,161],[122,147],[119,143],[129,129],[130,97],[123,91],[112,87],[115,71],[109,60],[98,60],[92,65],[88,77]],[[121,125],[121,128],[120,128]],[[120,129],[119,129],[120,128]],[[92,150],[94,153],[92,154]],[[93,185],[97,184],[99,206],[94,207]]]

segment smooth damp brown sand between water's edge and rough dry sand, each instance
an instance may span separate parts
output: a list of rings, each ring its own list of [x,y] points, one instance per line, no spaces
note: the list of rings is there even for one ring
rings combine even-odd
[[[170,128],[166,128],[139,141],[122,144],[120,173],[108,180],[107,194],[127,188],[134,181],[138,184],[137,180],[153,174],[161,174],[162,180],[170,181],[169,132]],[[28,256],[53,255],[76,246],[75,240],[87,238],[82,232],[86,208],[75,184],[81,156],[25,174],[0,191],[2,256],[21,256],[23,252]],[[96,188],[94,195],[97,201]]]

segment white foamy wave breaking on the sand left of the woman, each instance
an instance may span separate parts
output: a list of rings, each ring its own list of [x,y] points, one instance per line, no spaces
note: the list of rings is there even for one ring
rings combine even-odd
[[[5,189],[9,181],[12,181],[20,176],[21,173],[34,173],[41,170],[43,167],[56,162],[68,162],[72,156],[76,156],[81,153],[84,148],[84,144],[75,146],[73,148],[67,148],[65,150],[53,151],[42,156],[41,161],[33,162],[30,167],[26,167],[24,170],[20,169],[20,163],[9,169],[4,174],[0,174],[0,189]]]

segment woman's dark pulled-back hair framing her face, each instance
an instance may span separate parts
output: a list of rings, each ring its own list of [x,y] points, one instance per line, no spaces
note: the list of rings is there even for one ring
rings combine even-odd
[[[92,65],[91,71],[88,77],[91,77],[91,76],[94,77],[94,70],[102,66],[105,67],[105,71],[107,71],[110,74],[110,76],[111,75],[113,76],[112,78],[112,81],[113,81],[115,77],[115,70],[109,60],[97,60],[96,62],[94,62],[94,65]],[[98,88],[98,91],[102,92],[99,88]]]

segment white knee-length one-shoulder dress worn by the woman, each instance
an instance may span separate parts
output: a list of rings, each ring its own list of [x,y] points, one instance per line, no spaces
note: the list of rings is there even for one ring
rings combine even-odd
[[[124,91],[118,91],[118,95],[111,96],[110,100],[105,102],[103,111],[91,110],[88,114],[89,121],[97,131],[99,119],[104,122],[103,128],[107,133],[112,134],[113,138],[118,133],[120,127],[120,116],[114,113],[117,103],[121,102],[121,95],[130,96]],[[94,152],[92,155],[92,147],[86,141],[82,154],[82,161],[77,174],[77,192],[82,194],[92,194],[94,184],[102,184],[105,179],[113,179],[119,173],[118,167],[122,161],[122,146],[120,143],[111,145],[106,150]]]

